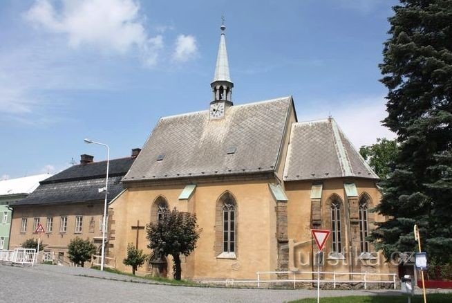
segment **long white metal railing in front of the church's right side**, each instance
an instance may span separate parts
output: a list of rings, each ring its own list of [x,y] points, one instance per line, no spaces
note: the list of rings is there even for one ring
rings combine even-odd
[[[396,289],[396,277],[395,273],[346,273],[346,272],[335,272],[335,271],[321,271],[319,273],[323,275],[320,277],[320,283],[332,283],[333,288],[336,288],[337,283],[364,283],[364,289],[367,289],[367,284],[372,283],[386,283],[394,284],[394,289]],[[225,284],[226,286],[234,285],[235,283],[256,283],[257,287],[261,287],[262,283],[274,283],[274,282],[289,282],[294,284],[294,289],[296,288],[297,282],[305,283],[317,283],[317,271],[261,271],[257,272],[257,279],[252,280],[234,280],[226,279],[223,281],[202,281],[200,283],[205,284]],[[286,279],[262,279],[262,275],[287,275]],[[290,278],[292,275],[292,278]],[[300,275],[312,275],[312,278],[301,278]],[[298,277],[297,277],[298,276]],[[315,278],[314,278],[315,276]],[[344,277],[345,276],[345,277]],[[357,278],[355,278],[357,276]],[[387,279],[382,279],[386,276]],[[380,277],[380,279],[375,279],[373,277]]]

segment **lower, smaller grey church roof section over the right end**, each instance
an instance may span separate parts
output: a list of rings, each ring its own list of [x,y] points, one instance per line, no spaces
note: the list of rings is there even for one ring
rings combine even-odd
[[[346,176],[378,179],[334,119],[292,125],[284,181]]]

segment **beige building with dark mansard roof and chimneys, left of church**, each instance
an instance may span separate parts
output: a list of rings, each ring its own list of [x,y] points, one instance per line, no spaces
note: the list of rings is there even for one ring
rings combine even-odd
[[[139,152],[133,149],[131,156],[109,161],[109,203],[122,192],[121,179]],[[79,165],[41,181],[26,199],[12,203],[10,247],[39,237],[35,230],[41,223],[46,260],[67,264],[67,246],[75,237],[91,239],[100,251],[105,177],[106,161],[94,162],[93,156],[83,154]]]

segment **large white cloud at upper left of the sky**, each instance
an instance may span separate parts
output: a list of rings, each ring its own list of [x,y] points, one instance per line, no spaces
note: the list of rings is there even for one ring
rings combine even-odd
[[[156,64],[162,36],[150,37],[133,0],[63,0],[60,9],[37,0],[25,18],[49,33],[66,35],[69,46],[91,46],[104,52],[138,49],[147,66]]]

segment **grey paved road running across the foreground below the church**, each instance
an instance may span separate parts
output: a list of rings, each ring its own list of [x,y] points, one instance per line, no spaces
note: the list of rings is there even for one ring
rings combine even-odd
[[[85,277],[84,275],[90,276]],[[140,283],[133,283],[135,282]],[[394,291],[322,291],[322,296],[387,295]],[[398,293],[398,291],[396,291]],[[149,284],[89,268],[0,265],[0,302],[287,302],[312,290],[207,288]]]

